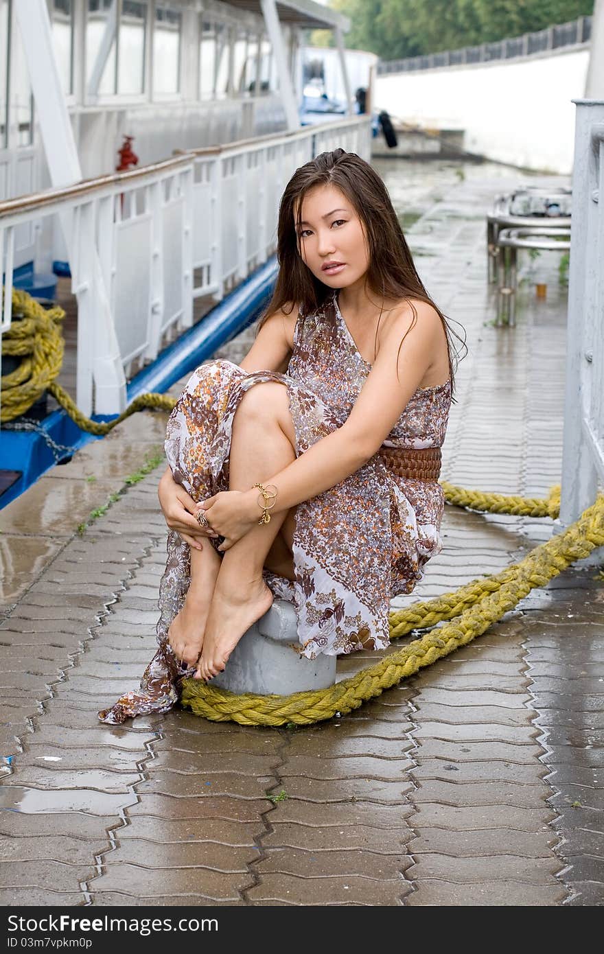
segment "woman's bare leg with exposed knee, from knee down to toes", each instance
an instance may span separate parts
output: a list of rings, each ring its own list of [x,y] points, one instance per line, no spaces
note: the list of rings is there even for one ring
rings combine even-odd
[[[294,426],[283,384],[256,384],[235,414],[230,453],[230,487],[248,490],[269,480],[296,457]],[[261,510],[258,510],[259,519]],[[222,557],[206,624],[196,677],[209,679],[224,669],[241,636],[273,602],[262,579],[268,551],[287,511],[255,526]]]

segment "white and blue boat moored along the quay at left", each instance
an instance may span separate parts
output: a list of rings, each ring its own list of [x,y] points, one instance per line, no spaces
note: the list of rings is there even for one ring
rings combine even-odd
[[[349,26],[313,0],[0,0],[5,350],[13,287],[58,301],[58,382],[102,422],[260,315],[287,179],[339,146],[370,157]],[[321,121],[303,109],[315,29],[334,33],[344,91]],[[90,440],[44,397],[3,420],[0,508]]]

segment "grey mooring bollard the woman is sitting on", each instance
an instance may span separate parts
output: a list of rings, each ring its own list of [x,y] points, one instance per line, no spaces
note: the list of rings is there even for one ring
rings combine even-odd
[[[229,693],[290,695],[306,689],[326,689],[336,681],[336,656],[307,659],[299,647],[296,610],[276,599],[268,612],[244,633],[229,656],[223,673],[210,685]]]

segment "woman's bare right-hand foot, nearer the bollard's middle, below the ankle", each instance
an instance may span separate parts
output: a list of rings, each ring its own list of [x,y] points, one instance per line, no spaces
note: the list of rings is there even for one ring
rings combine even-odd
[[[241,636],[270,610],[273,594],[261,579],[223,590],[220,580],[214,591],[206,625],[203,651],[194,678],[211,679],[224,669]]]

